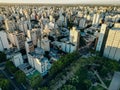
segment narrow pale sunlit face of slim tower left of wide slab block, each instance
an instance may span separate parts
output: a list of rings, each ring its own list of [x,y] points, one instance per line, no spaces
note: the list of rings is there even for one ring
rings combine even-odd
[[[100,29],[99,38],[98,38],[98,43],[97,43],[97,46],[96,46],[96,51],[100,51],[101,50],[103,39],[104,39],[104,35],[105,35],[105,32],[106,32],[106,28],[107,28],[107,25],[106,24],[102,24],[101,29]]]

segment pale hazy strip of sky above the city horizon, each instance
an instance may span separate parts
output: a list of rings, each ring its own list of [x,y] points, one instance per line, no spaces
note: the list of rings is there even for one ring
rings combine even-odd
[[[117,4],[120,0],[0,0],[0,3]]]

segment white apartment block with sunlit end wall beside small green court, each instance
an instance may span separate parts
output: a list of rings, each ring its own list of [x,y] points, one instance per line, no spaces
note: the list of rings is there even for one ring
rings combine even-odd
[[[34,52],[28,54],[29,64],[38,70],[42,76],[47,74],[48,69],[50,69],[50,63],[44,55],[44,50],[42,48],[36,48]]]

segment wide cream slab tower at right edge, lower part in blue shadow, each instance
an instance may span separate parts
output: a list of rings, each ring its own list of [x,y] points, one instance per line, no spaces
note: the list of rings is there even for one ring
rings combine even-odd
[[[120,60],[120,28],[112,28],[109,30],[104,56],[117,61]]]

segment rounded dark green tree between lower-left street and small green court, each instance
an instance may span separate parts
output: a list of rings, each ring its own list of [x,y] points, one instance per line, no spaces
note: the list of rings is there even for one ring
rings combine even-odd
[[[21,70],[18,70],[17,72],[15,72],[15,78],[18,83],[26,83],[26,75]]]

